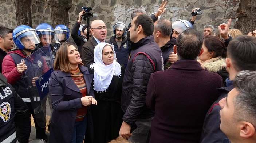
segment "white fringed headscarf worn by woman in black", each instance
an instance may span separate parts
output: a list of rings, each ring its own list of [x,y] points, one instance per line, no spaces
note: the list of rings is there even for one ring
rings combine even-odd
[[[103,48],[109,45],[114,53],[113,63],[109,65],[105,65],[102,60],[102,51]],[[121,74],[121,66],[116,61],[116,54],[114,51],[114,45],[109,43],[99,43],[94,49],[94,62],[90,65],[90,68],[94,69],[94,90],[95,91],[105,91],[113,78],[114,75],[120,76]]]

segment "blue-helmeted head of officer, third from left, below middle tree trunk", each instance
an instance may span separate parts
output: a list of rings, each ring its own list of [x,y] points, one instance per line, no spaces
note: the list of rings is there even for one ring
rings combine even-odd
[[[55,40],[57,41],[64,41],[67,40],[69,37],[69,29],[67,26],[63,24],[59,24],[55,27]]]

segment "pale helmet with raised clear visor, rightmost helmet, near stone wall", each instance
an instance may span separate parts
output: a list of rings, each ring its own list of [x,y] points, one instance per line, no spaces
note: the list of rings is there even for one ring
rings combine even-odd
[[[179,34],[189,28],[193,28],[193,25],[187,20],[178,19],[172,23],[172,29],[176,30]]]

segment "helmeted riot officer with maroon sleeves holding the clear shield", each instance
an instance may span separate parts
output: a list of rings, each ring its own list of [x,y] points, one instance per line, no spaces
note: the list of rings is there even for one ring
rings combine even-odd
[[[32,66],[26,65],[28,63],[24,61],[27,56],[34,52],[35,44],[40,43],[40,39],[36,30],[27,25],[17,26],[13,30],[12,36],[18,48],[8,52],[5,56],[2,71],[3,75],[7,77],[8,83],[15,88],[16,92],[28,106],[28,111],[25,114],[15,117],[17,139],[20,143],[28,143],[31,131],[30,116],[32,114],[36,127],[36,138],[47,140],[45,134],[45,117],[40,98],[35,97],[35,92],[29,90],[34,89],[35,79],[32,79],[31,76],[27,76],[28,73],[26,70]],[[45,62],[40,58],[31,60],[35,62],[35,65],[38,64],[40,68],[46,67]],[[47,68],[45,70],[47,70]]]

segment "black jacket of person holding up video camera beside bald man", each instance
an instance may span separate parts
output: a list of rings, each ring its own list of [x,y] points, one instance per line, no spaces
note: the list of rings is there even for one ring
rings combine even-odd
[[[73,38],[75,44],[77,45],[78,52],[82,52],[82,47],[84,43],[87,42],[87,39],[83,35],[78,35],[78,30],[80,27],[81,23],[78,23],[77,21],[75,22],[73,29],[71,31],[71,37]]]

